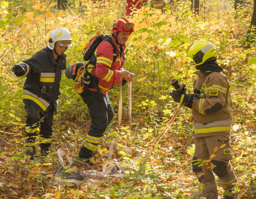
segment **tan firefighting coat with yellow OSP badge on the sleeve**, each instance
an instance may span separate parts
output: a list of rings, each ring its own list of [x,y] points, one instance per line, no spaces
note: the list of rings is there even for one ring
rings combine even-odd
[[[205,137],[230,134],[232,126],[232,100],[229,84],[221,72],[202,74],[196,71],[194,92],[203,90],[204,96],[195,99],[192,106],[193,136]],[[198,94],[198,92],[197,92]]]

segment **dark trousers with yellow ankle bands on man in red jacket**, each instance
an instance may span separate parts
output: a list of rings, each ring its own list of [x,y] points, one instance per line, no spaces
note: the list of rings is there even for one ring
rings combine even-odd
[[[79,158],[89,159],[92,152],[95,151],[103,138],[103,133],[114,117],[114,111],[111,106],[108,95],[101,93],[104,102],[100,102],[98,93],[88,90],[86,95],[80,94],[83,101],[87,104],[91,116],[91,125],[86,135],[85,142],[80,148]]]

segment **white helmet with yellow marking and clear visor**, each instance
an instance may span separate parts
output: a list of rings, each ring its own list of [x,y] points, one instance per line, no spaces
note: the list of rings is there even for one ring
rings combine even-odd
[[[47,46],[48,48],[53,50],[56,42],[60,46],[64,46],[68,48],[68,47],[72,47],[71,41],[72,41],[72,38],[68,33],[68,31],[65,28],[58,27],[51,33],[49,43]]]

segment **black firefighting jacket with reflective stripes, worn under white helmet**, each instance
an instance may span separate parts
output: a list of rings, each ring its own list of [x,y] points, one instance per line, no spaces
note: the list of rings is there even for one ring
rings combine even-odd
[[[61,76],[66,69],[66,55],[54,59],[53,52],[46,47],[38,51],[30,59],[21,63],[27,72],[21,77],[27,77],[23,86],[23,102],[35,104],[40,112],[48,116],[50,108],[54,106],[57,114]]]

